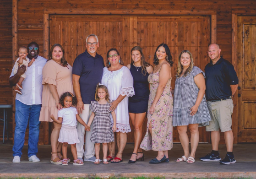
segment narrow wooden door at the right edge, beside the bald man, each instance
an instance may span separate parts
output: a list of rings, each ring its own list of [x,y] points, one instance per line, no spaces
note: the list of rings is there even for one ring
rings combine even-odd
[[[238,16],[238,142],[256,142],[256,16]]]

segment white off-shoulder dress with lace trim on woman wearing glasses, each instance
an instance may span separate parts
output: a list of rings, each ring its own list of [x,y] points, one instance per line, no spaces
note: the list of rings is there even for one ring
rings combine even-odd
[[[101,83],[108,88],[109,98],[112,100],[116,100],[119,95],[126,95],[114,110],[116,114],[116,132],[131,132],[129,124],[128,97],[133,96],[135,93],[130,70],[126,66],[123,66],[117,71],[109,71],[107,67],[104,67]],[[110,118],[113,124],[111,114]]]

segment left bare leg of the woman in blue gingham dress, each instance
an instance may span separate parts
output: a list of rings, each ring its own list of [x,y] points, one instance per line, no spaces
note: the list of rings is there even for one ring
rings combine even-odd
[[[189,154],[189,139],[188,139],[188,135],[187,135],[187,125],[181,125],[181,126],[177,126],[177,130],[179,133],[179,138],[180,138],[180,143],[181,146],[184,150],[184,156],[186,158],[188,158],[190,156]]]

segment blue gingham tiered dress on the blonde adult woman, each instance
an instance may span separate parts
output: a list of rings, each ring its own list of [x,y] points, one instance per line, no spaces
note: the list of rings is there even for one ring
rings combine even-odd
[[[194,77],[205,73],[194,66],[192,71],[185,77],[176,78],[174,88],[173,126],[199,124],[199,127],[209,125],[211,116],[207,108],[205,95],[195,115],[191,116],[190,109],[196,103],[199,88],[196,86]]]

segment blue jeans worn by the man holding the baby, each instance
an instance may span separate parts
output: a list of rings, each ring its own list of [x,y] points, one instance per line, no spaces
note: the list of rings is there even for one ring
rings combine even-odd
[[[39,138],[39,115],[42,104],[27,105],[19,100],[15,100],[15,132],[14,145],[12,148],[13,157],[22,156],[22,149],[25,142],[25,132],[27,129],[27,122],[29,121],[28,133],[28,157],[37,155],[38,152],[38,138]]]

